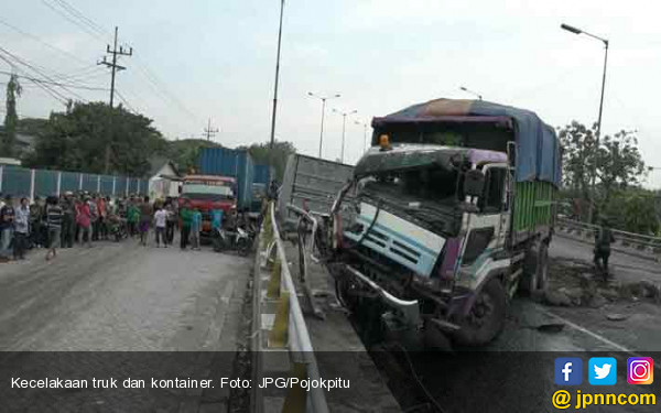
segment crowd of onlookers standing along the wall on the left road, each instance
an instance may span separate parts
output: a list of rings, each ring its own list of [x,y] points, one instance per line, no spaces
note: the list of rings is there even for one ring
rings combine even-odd
[[[214,214],[214,226],[220,224],[219,215]],[[85,192],[32,202],[0,195],[0,262],[23,260],[34,249],[45,250],[51,260],[58,248],[93,247],[110,239],[139,238],[147,246],[152,227],[156,247],[172,246],[178,228],[180,247],[199,249],[202,214],[189,203],[180,208],[173,198],[150,202],[136,195],[111,198]]]

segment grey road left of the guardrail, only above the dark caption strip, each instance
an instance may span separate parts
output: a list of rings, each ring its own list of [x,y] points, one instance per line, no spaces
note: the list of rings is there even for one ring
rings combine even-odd
[[[134,240],[43,254],[0,267],[2,350],[234,349],[247,259]]]

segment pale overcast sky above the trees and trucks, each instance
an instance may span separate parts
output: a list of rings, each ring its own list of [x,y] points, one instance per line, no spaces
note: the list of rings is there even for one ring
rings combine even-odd
[[[224,145],[269,140],[279,0],[6,3],[0,47],[53,78],[74,76],[63,81],[77,85],[109,88],[109,70],[96,63],[119,26],[119,44],[133,55],[120,58],[127,69],[117,75],[117,90],[167,139],[199,138],[210,118],[219,129],[214,140]],[[83,30],[67,7],[100,29]],[[361,155],[372,117],[440,97],[472,98],[462,86],[531,109],[554,127],[595,122],[604,45],[560,29],[567,23],[610,41],[603,133],[637,130],[644,161],[661,166],[660,11],[653,0],[286,0],[277,139],[317,154],[322,104],[308,91],[342,95],[327,104],[326,159],[342,151],[343,117],[333,109],[357,110],[346,122],[348,163]],[[11,68],[0,61],[0,70]],[[3,95],[7,79],[0,73]],[[24,85],[21,117],[63,109]],[[107,90],[71,90],[86,100],[109,98]],[[661,186],[661,171],[648,185]]]

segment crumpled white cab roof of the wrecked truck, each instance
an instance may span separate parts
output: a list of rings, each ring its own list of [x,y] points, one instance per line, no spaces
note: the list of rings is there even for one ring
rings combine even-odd
[[[427,144],[395,144],[390,150],[370,149],[358,162],[355,176],[440,166],[446,170],[469,167],[470,164],[505,163],[502,152]]]

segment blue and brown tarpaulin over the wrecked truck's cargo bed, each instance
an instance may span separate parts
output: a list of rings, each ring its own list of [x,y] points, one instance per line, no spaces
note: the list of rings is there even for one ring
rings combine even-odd
[[[511,120],[517,141],[517,181],[544,181],[561,185],[560,141],[552,127],[533,111],[485,100],[435,99],[413,105],[383,118],[372,127],[389,123],[505,122]]]

